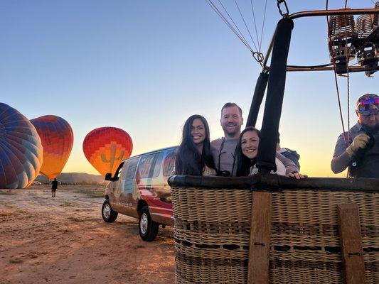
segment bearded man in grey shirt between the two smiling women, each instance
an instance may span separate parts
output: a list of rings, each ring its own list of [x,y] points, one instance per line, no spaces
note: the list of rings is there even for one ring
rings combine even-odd
[[[242,109],[233,102],[224,104],[221,109],[220,124],[223,127],[224,137],[210,142],[210,151],[212,151],[218,175],[235,177],[237,173],[235,149],[243,124]]]

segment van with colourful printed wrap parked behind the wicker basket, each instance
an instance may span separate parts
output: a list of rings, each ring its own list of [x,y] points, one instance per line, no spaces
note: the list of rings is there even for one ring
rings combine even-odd
[[[177,147],[136,155],[119,164],[114,176],[105,175],[102,219],[114,222],[117,214],[139,219],[139,236],[153,241],[159,225],[174,226],[171,187],[167,183],[174,170]]]

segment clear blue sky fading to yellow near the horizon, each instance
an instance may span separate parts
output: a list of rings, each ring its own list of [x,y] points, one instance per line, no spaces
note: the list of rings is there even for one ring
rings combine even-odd
[[[331,8],[344,4],[330,2]],[[240,21],[234,1],[223,3]],[[251,24],[250,1],[238,3]],[[265,1],[253,3],[260,33]],[[325,6],[287,3],[291,13]],[[370,0],[348,4],[373,6]],[[269,0],[262,50],[278,20],[276,1]],[[296,20],[289,63],[329,62],[326,33],[324,17]],[[29,119],[55,114],[73,126],[65,172],[96,173],[82,141],[100,126],[127,131],[134,155],[178,144],[191,114],[208,119],[213,138],[222,136],[220,108],[236,102],[247,119],[261,70],[205,1],[1,1],[0,34],[0,101]],[[339,80],[347,124],[346,79]],[[351,125],[355,100],[378,86],[378,75],[351,75]],[[335,176],[329,165],[341,120],[332,72],[287,75],[280,132],[282,146],[301,154],[302,172]]]

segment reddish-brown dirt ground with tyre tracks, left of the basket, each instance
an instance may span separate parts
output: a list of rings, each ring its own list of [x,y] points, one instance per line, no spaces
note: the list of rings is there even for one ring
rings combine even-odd
[[[101,217],[103,188],[0,190],[0,283],[174,283],[173,229],[155,241],[137,219]]]

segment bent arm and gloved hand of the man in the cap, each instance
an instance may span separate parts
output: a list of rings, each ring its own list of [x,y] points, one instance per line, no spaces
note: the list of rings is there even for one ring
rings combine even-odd
[[[343,170],[346,170],[348,165],[351,163],[351,158],[360,148],[365,148],[367,146],[370,137],[364,133],[357,135],[353,142],[346,148],[345,151],[341,153],[341,136],[338,138],[336,144],[336,151],[334,151],[333,159],[331,160],[331,170],[333,173],[341,173]],[[344,143],[344,142],[343,142]],[[338,155],[338,152],[341,153]],[[337,153],[337,154],[336,154]]]

